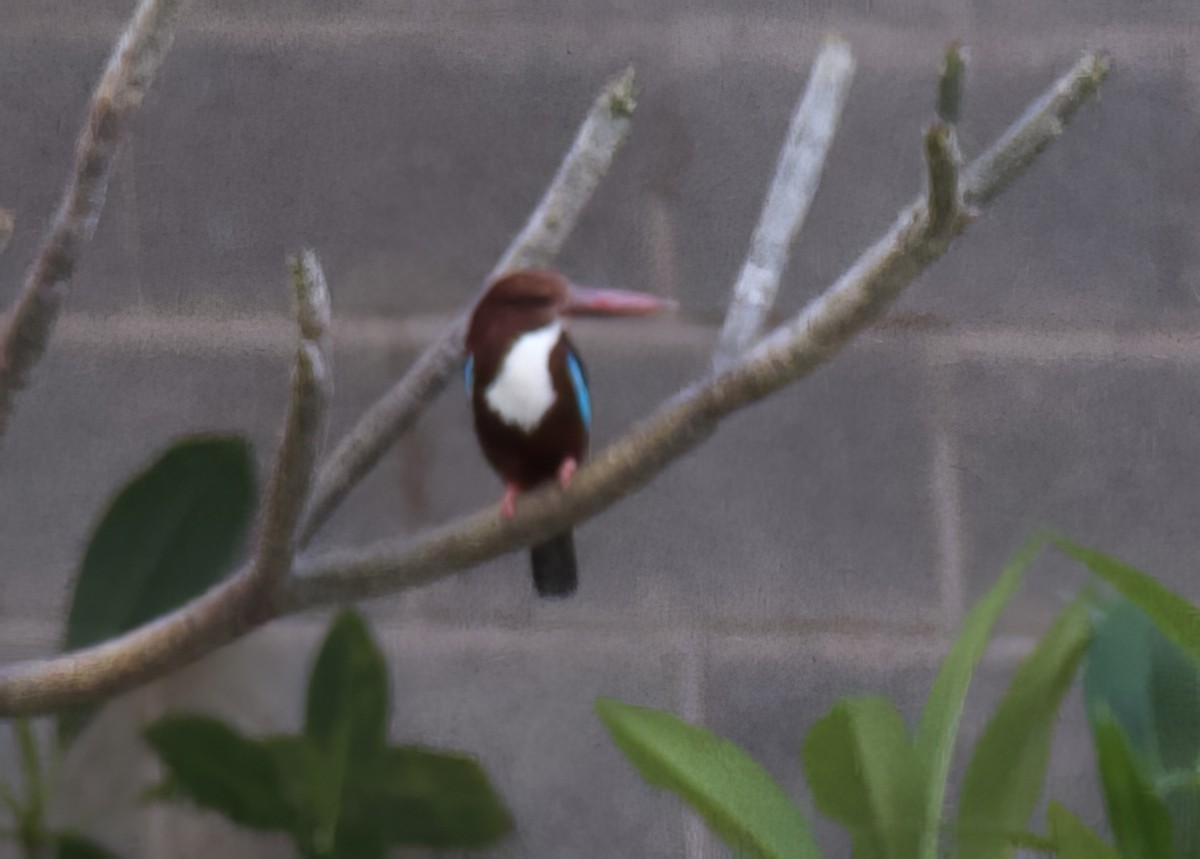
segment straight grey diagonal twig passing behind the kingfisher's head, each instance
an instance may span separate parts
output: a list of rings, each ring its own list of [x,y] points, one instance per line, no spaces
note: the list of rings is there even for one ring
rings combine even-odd
[[[634,70],[630,67],[608,82],[596,97],[554,180],[485,284],[505,271],[546,265],[562,250],[629,136],[635,107]],[[312,501],[300,527],[301,546],[308,545],[342,499],[445,388],[462,362],[468,314],[460,314],[338,441],[317,475]]]

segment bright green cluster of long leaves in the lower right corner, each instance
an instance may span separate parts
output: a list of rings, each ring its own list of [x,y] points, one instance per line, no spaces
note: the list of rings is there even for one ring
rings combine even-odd
[[[1127,599],[1085,591],[1018,666],[974,743],[948,825],[946,780],[971,677],[1026,569],[1051,542]],[[856,859],[932,859],[947,847],[1002,859],[1022,846],[1063,859],[1200,855],[1200,717],[1184,715],[1200,714],[1198,618],[1150,576],[1038,534],[967,614],[914,734],[878,696],[841,699],[811,726],[802,758],[816,807],[848,831]],[[1081,666],[1116,847],[1056,801],[1049,834],[1030,831],[1058,710]],[[738,855],[821,855],[803,812],[728,740],[611,699],[596,709],[642,776],[679,794]]]

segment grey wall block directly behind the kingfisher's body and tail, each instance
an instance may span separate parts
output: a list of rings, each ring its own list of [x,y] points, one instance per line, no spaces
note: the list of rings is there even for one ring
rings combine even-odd
[[[580,350],[590,354],[586,341]],[[598,445],[706,361],[637,350],[589,360]],[[530,611],[545,623],[925,623],[937,591],[924,396],[912,354],[852,350],[580,528],[574,599],[532,601],[528,560],[512,555],[422,593],[421,611],[509,623]],[[444,398],[427,421],[433,518],[494,503],[499,483],[475,452],[463,398]]]

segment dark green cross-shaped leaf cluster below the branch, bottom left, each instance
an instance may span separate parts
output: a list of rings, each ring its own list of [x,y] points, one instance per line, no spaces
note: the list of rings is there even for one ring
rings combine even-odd
[[[292,836],[312,858],[371,859],[391,846],[484,847],[512,822],[469,757],[389,745],[388,668],[362,618],[343,612],[308,680],[300,734],[252,739],[209,716],[145,731],[167,769],[152,797]]]

